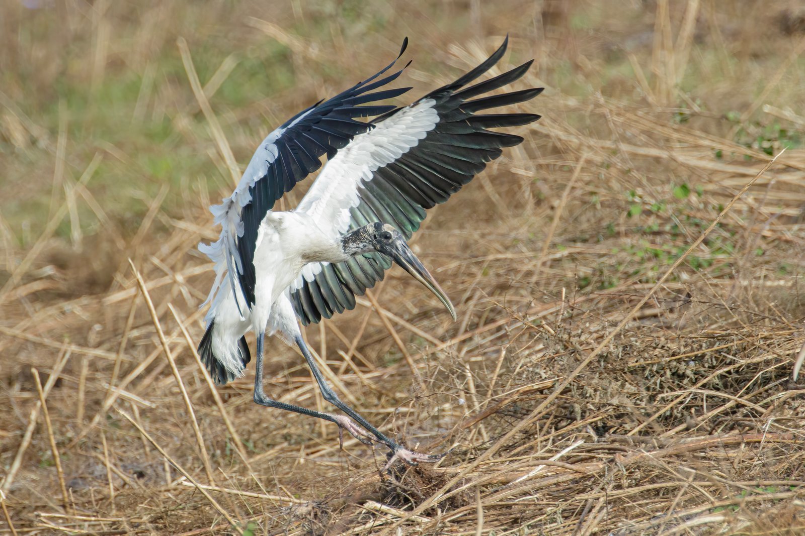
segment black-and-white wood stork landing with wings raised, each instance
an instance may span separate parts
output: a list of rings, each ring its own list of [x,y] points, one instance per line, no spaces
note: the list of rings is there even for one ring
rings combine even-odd
[[[412,452],[391,440],[341,402],[328,386],[299,330],[355,307],[382,280],[392,260],[424,284],[456,319],[447,295],[408,248],[425,211],[499,157],[502,147],[522,137],[489,130],[526,125],[531,113],[476,115],[517,104],[543,88],[481,96],[518,80],[533,60],[465,88],[489,71],[506,51],[501,47],[452,84],[405,108],[371,104],[411,88],[383,89],[403,68],[382,78],[403,55],[363,82],[292,117],[262,141],[237,188],[211,207],[221,237],[199,249],[215,262],[216,279],[204,304],[211,303],[199,354],[215,381],[242,376],[250,361],[244,334],[257,333],[254,402],[336,423],[365,444],[390,448],[409,464],[440,456]],[[409,62],[410,63],[410,62]],[[407,67],[407,65],[406,65]],[[474,98],[481,96],[481,98]],[[374,117],[356,121],[356,117]],[[295,184],[328,162],[294,211],[272,211]],[[278,335],[302,351],[324,399],[345,415],[332,415],[270,399],[263,391],[263,340]],[[360,425],[360,426],[358,426]],[[362,428],[361,428],[362,427]]]

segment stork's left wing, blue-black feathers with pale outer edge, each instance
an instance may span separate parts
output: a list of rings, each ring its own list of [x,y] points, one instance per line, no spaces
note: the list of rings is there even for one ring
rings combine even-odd
[[[251,309],[255,283],[252,261],[258,229],[266,212],[297,182],[320,168],[322,155],[326,153],[327,158],[333,158],[353,137],[373,128],[372,123],[355,121],[355,117],[377,116],[394,109],[390,105],[361,104],[389,99],[411,89],[370,93],[400,75],[402,69],[376,80],[403,55],[407,44],[406,38],[397,58],[374,76],[329,100],[319,101],[270,133],[255,151],[233,194],[220,205],[210,207],[215,223],[220,223],[222,229],[217,242],[199,244],[199,250],[216,263],[216,280],[204,305],[213,300],[228,272],[238,309],[242,312],[243,302],[237,297],[237,288],[242,290],[242,297]]]

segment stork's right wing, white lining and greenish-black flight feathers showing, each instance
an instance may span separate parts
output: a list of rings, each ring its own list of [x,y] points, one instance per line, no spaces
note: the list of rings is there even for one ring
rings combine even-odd
[[[539,119],[532,113],[475,115],[530,100],[543,90],[471,100],[518,80],[530,67],[533,60],[464,88],[501,59],[507,43],[508,38],[489,59],[452,84],[375,120],[374,129],[357,135],[328,161],[296,211],[312,215],[322,230],[332,231],[334,239],[378,221],[411,238],[427,209],[447,201],[487,162],[499,157],[503,147],[522,142],[522,137],[489,129]],[[379,253],[338,264],[306,265],[289,288],[297,316],[307,325],[353,309],[355,295],[382,280],[390,266],[390,259]]]

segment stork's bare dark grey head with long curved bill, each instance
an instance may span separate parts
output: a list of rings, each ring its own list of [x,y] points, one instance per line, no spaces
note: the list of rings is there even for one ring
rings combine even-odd
[[[369,223],[369,225],[345,235],[341,241],[341,247],[349,256],[369,252],[381,252],[383,255],[390,256],[395,263],[403,267],[403,270],[425,285],[431,293],[434,293],[447,307],[453,320],[456,320],[456,309],[453,308],[447,294],[436,283],[427,268],[416,258],[414,252],[408,247],[405,237],[394,226],[380,222]]]

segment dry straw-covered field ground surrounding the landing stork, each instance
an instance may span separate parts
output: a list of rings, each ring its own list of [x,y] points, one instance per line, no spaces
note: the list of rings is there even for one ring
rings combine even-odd
[[[459,321],[394,268],[306,330],[450,455],[380,475],[252,370],[211,388],[224,148],[406,35],[413,98],[506,33],[543,119],[413,240]],[[2,2],[0,534],[805,534],[803,54],[803,2]],[[324,407],[266,351],[271,395]]]

